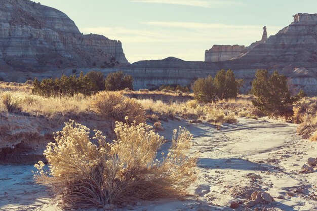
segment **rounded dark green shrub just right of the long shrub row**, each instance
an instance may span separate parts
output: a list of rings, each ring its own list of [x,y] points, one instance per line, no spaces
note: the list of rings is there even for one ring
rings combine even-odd
[[[107,91],[118,91],[129,88],[133,90],[133,78],[131,75],[124,75],[123,71],[109,73],[105,80]]]

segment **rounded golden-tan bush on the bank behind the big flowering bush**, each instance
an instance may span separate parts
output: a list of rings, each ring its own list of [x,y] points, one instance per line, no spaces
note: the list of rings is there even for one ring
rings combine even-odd
[[[92,109],[101,115],[111,116],[124,121],[129,116],[129,122],[145,121],[145,112],[134,98],[125,97],[121,92],[99,92],[92,97]]]

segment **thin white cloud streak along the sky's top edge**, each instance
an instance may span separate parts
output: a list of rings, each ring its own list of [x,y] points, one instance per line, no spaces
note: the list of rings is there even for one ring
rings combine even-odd
[[[131,0],[135,3],[152,3],[152,4],[168,4],[168,5],[182,5],[191,7],[203,7],[203,8],[222,8],[228,6],[243,6],[244,4],[237,1],[226,0]]]

